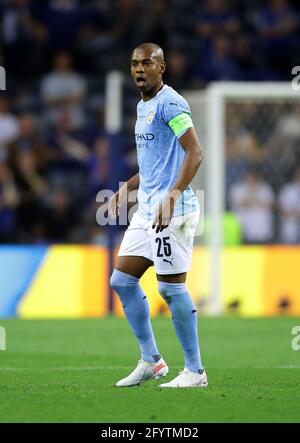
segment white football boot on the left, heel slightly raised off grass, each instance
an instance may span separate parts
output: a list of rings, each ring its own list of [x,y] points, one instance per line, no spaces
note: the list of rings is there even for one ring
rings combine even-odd
[[[163,358],[160,358],[156,363],[151,363],[145,360],[139,360],[137,367],[126,378],[122,378],[116,383],[118,387],[129,387],[141,385],[148,380],[158,380],[165,377],[169,372],[169,368]]]

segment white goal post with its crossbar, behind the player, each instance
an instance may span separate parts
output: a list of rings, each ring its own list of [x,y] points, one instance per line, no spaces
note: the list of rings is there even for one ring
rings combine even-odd
[[[233,104],[234,112],[239,112],[250,104],[257,111],[254,125],[263,125],[260,121],[264,116],[260,107],[265,106],[269,117],[264,117],[268,124],[277,123],[278,113],[283,117],[288,106],[300,103],[300,93],[292,88],[291,83],[283,82],[218,82],[212,83],[205,91],[186,91],[185,97],[192,98],[191,107],[194,124],[203,127],[205,134],[200,132],[205,158],[205,212],[210,220],[210,237],[208,249],[210,256],[210,294],[208,312],[214,315],[223,312],[221,300],[222,265],[221,253],[224,247],[222,218],[226,210],[226,126],[228,125],[228,105]],[[203,106],[205,102],[205,106]],[[198,105],[197,105],[198,103]],[[201,107],[201,115],[197,114],[197,106]],[[276,112],[275,112],[276,110]],[[274,114],[274,115],[272,115]],[[196,115],[196,118],[195,118]],[[199,123],[201,119],[201,124]],[[273,119],[273,120],[272,120]],[[272,123],[273,122],[273,123]],[[252,122],[253,124],[253,122]],[[255,131],[254,131],[255,132]]]

